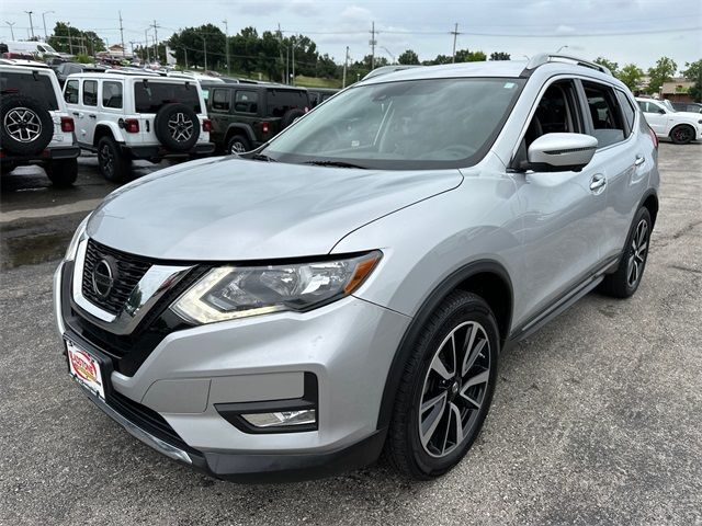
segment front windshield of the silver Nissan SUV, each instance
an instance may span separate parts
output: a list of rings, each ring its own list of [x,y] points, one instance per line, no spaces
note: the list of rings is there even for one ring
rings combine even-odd
[[[522,79],[424,79],[351,88],[262,150],[292,163],[385,170],[478,162],[507,119]]]

